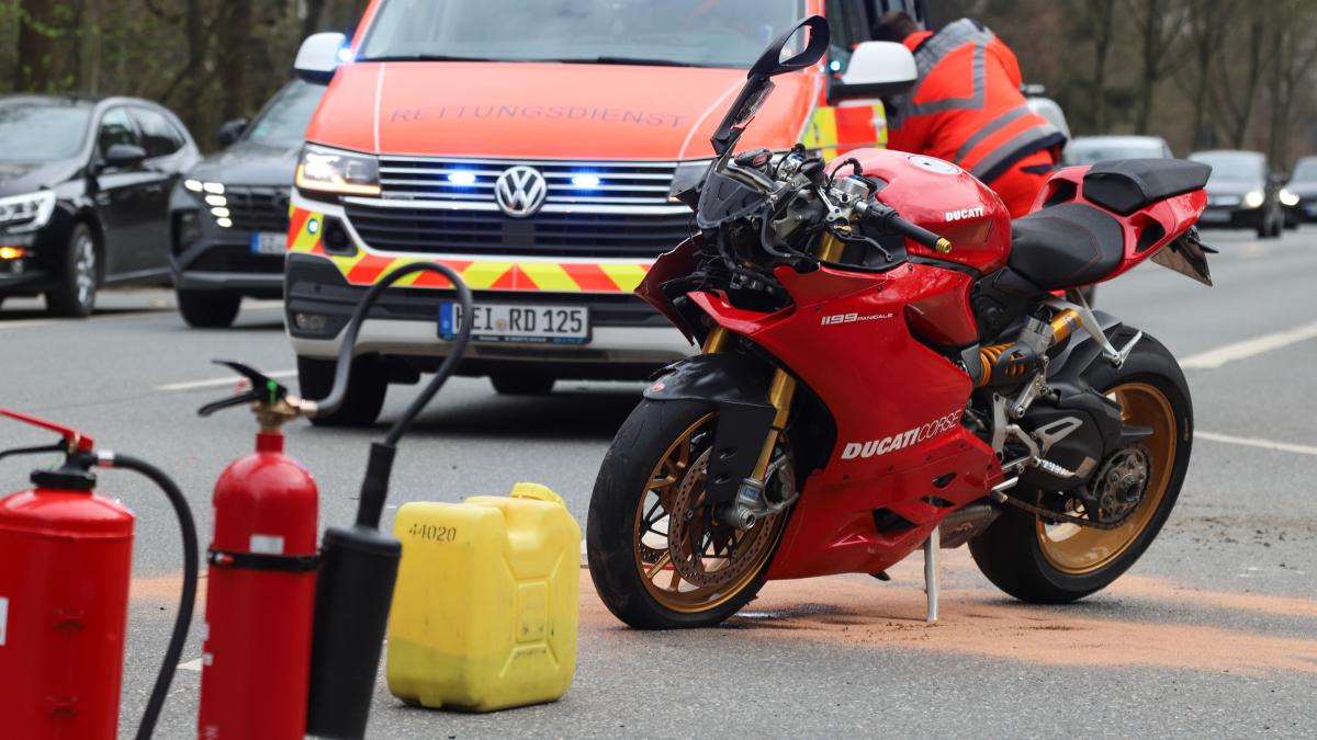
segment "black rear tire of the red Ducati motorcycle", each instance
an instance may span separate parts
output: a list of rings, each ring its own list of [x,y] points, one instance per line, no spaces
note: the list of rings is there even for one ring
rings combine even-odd
[[[1133,332],[1126,330],[1114,344],[1121,346]],[[1158,510],[1143,529],[1104,566],[1083,574],[1065,573],[1048,561],[1038,535],[1034,514],[1006,506],[1005,512],[982,535],[969,541],[975,564],[1002,591],[1030,603],[1069,603],[1097,593],[1133,566],[1147,550],[1166,524],[1189,466],[1193,442],[1193,407],[1184,373],[1175,357],[1155,338],[1146,336],[1119,369],[1097,359],[1084,374],[1094,388],[1104,392],[1127,383],[1152,386],[1173,410],[1175,462],[1168,486]],[[1033,500],[1038,491],[1013,490],[1013,496]]]

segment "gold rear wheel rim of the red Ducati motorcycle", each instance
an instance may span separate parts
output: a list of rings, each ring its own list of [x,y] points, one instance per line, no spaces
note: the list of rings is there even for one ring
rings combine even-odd
[[[1055,524],[1035,517],[1038,544],[1052,568],[1071,575],[1101,570],[1121,557],[1147,529],[1171,486],[1177,436],[1175,412],[1166,394],[1147,383],[1122,383],[1108,391],[1121,404],[1121,416],[1133,427],[1150,427],[1142,440],[1152,461],[1147,491],[1138,507],[1115,529]]]

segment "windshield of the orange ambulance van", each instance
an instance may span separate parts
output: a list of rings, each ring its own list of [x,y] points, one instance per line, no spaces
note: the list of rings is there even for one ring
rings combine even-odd
[[[748,68],[803,0],[385,0],[360,61]]]

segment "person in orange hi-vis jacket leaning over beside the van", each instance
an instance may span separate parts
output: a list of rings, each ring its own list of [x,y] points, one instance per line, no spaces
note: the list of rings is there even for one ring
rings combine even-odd
[[[888,149],[955,162],[993,188],[1011,217],[1029,213],[1065,136],[1029,109],[1015,54],[972,18],[934,33],[896,11],[874,22],[873,38],[903,43],[919,68],[910,92],[885,100]]]

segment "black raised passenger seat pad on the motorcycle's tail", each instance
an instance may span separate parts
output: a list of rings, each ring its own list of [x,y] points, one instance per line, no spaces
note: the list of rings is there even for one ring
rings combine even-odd
[[[1084,198],[1121,216],[1208,184],[1212,167],[1185,159],[1113,159],[1084,175]]]

